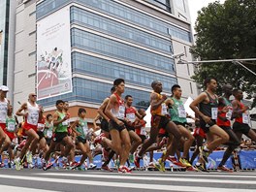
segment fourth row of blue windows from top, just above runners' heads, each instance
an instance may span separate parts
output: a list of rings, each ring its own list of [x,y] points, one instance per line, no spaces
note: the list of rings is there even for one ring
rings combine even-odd
[[[150,87],[153,80],[161,80],[163,88],[166,91],[169,91],[170,88],[176,84],[175,78],[147,72],[142,69],[89,56],[80,52],[72,53],[72,66],[73,72],[80,72],[101,78],[104,77],[110,80],[122,78],[129,83],[145,86],[147,88]]]

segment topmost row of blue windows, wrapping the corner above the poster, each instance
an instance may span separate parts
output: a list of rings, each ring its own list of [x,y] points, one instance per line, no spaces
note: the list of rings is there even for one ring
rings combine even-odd
[[[151,31],[158,32],[162,35],[172,35],[178,39],[191,42],[191,33],[176,27],[175,25],[166,23],[162,20],[147,16],[141,12],[138,12],[132,8],[121,5],[112,0],[47,0],[43,1],[37,6],[37,18],[40,19],[46,16],[67,3],[79,2],[82,5],[89,6],[97,9],[103,13],[122,18],[131,23],[143,26]],[[169,34],[168,34],[169,33]]]

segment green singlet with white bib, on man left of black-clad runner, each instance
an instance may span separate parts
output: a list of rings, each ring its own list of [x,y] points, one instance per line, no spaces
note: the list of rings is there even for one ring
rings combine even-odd
[[[169,110],[169,113],[171,115],[172,121],[177,121],[180,123],[187,122],[186,120],[186,111],[183,105],[183,102],[180,100],[177,100],[176,98],[172,98],[174,101],[174,105],[172,106],[173,109]]]

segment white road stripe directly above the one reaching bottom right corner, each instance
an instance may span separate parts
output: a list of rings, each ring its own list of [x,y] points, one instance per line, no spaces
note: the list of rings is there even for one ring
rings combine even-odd
[[[113,179],[134,179],[134,180],[159,180],[159,181],[180,181],[180,182],[210,182],[214,183],[226,183],[226,184],[256,184],[254,180],[226,180],[226,179],[205,179],[205,178],[178,178],[178,177],[159,177],[159,176],[128,176],[128,175],[120,175],[120,176],[103,176],[103,175],[81,175],[81,174],[64,174],[64,173],[44,173],[44,174],[35,174],[38,176],[79,176],[79,177],[91,177],[91,178],[113,178]]]

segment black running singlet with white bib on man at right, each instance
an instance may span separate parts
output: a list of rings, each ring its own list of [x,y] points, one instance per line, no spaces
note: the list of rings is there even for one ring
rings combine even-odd
[[[206,91],[208,94],[208,92]],[[207,115],[213,120],[216,120],[218,117],[218,99],[212,99],[208,94],[209,102],[208,104],[204,104],[203,102],[199,104],[199,111],[203,114]],[[200,117],[202,119],[202,117]]]

